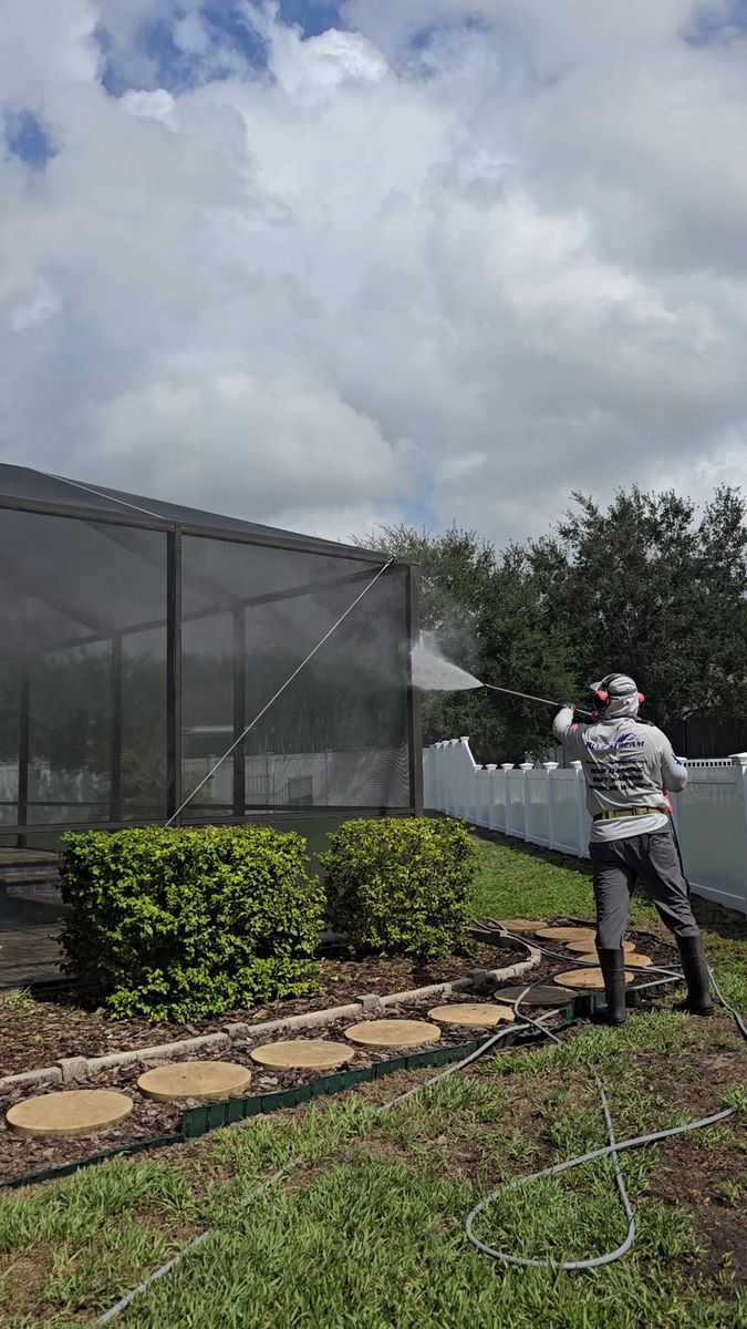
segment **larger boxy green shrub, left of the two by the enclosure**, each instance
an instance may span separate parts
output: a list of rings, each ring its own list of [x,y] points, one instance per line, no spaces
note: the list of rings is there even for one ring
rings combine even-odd
[[[308,991],[324,893],[306,869],[302,836],[270,827],[69,835],[65,971],[110,1014],[150,1019]]]

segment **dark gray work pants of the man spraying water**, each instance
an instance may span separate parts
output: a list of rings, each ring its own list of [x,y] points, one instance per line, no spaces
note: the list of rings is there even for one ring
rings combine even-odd
[[[671,827],[625,840],[595,840],[589,853],[599,949],[619,950],[622,946],[630,896],[638,881],[675,937],[698,936]]]

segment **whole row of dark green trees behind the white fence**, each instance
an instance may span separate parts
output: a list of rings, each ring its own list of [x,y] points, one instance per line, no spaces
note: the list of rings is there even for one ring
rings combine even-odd
[[[638,486],[606,509],[573,493],[550,532],[500,552],[457,526],[387,526],[356,542],[420,563],[423,627],[482,680],[589,706],[590,682],[621,670],[665,731],[702,711],[747,724],[739,489],[702,508]],[[469,734],[480,760],[546,751],[550,723],[550,710],[484,690],[424,695],[425,743]]]

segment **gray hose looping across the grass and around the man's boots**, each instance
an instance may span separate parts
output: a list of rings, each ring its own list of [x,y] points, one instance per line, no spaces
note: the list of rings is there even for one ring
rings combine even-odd
[[[512,933],[509,933],[509,932],[504,932],[504,936],[512,937],[512,940],[514,940],[514,941],[517,941],[517,940],[522,941],[524,940],[521,937],[518,937],[518,938],[513,937]],[[536,949],[540,950],[542,954],[546,954],[546,956],[553,954],[552,952],[546,950],[544,946],[537,946]],[[553,956],[553,958],[557,958],[557,957]],[[589,961],[586,961],[584,964],[589,964]],[[634,969],[637,966],[630,965],[630,966],[626,966],[626,968]],[[734,1006],[730,1006],[730,1003],[723,997],[723,994],[720,991],[720,987],[716,983],[714,971],[712,971],[712,969],[711,969],[710,965],[708,965],[708,974],[710,974],[711,983],[712,983],[712,987],[714,987],[714,991],[716,994],[716,998],[718,998],[719,1003],[724,1007],[724,1010],[727,1010],[734,1017],[740,1034],[743,1035],[743,1038],[747,1039],[747,1027],[744,1026],[744,1021],[743,1021],[742,1015],[739,1014],[739,1011],[736,1011],[734,1009]],[[675,977],[675,975],[673,974],[671,977]],[[658,986],[659,982],[667,982],[667,981],[670,981],[670,979],[659,979],[655,983],[643,983],[642,987],[654,987],[654,986]],[[537,982],[542,982],[542,979],[538,979]],[[517,997],[517,999],[513,1003],[514,1014],[517,1017],[520,1017],[521,1019],[524,1019],[526,1025],[534,1026],[534,1029],[541,1029],[541,1031],[548,1038],[552,1038],[553,1042],[560,1043],[562,1046],[561,1039],[556,1034],[553,1034],[552,1030],[545,1029],[544,1026],[540,1025],[538,1021],[533,1019],[532,1015],[528,1015],[525,1011],[522,1013],[520,1010],[521,1003],[524,1001],[526,1001],[526,997],[529,995],[529,993],[532,991],[532,989],[537,986],[537,982],[536,983],[529,983],[529,986],[525,987],[524,991]],[[637,989],[637,990],[641,991],[641,987]],[[597,1071],[597,1067],[593,1065],[593,1062],[589,1062],[586,1059],[584,1059],[584,1061],[585,1061],[585,1065],[587,1066],[589,1071],[591,1073],[591,1076],[594,1079],[594,1083],[595,1083],[598,1094],[599,1094],[599,1103],[602,1106],[602,1114],[603,1114],[605,1126],[606,1126],[606,1130],[607,1130],[609,1144],[605,1146],[605,1147],[602,1147],[602,1148],[598,1148],[598,1150],[590,1150],[587,1154],[581,1154],[581,1155],[578,1155],[578,1158],[566,1159],[565,1163],[556,1163],[552,1167],[542,1168],[540,1172],[530,1172],[528,1176],[514,1177],[513,1181],[504,1181],[502,1185],[496,1187],[494,1191],[490,1191],[489,1195],[486,1195],[482,1200],[480,1200],[480,1203],[476,1204],[475,1208],[471,1209],[471,1212],[468,1213],[464,1227],[465,1227],[467,1236],[469,1237],[469,1240],[472,1241],[472,1244],[475,1247],[477,1247],[477,1249],[481,1251],[482,1255],[489,1255],[490,1259],[493,1259],[493,1260],[501,1260],[504,1264],[510,1264],[510,1265],[520,1267],[520,1268],[552,1269],[552,1271],[558,1271],[558,1269],[564,1269],[564,1271],[569,1271],[569,1269],[595,1269],[599,1265],[613,1264],[614,1260],[619,1260],[621,1256],[626,1255],[630,1251],[630,1248],[631,1248],[631,1245],[633,1245],[633,1243],[635,1240],[635,1216],[633,1213],[633,1207],[630,1204],[630,1196],[627,1195],[627,1189],[626,1189],[625,1180],[623,1180],[623,1176],[622,1176],[622,1170],[621,1170],[621,1166],[619,1166],[619,1154],[623,1150],[634,1150],[634,1148],[641,1148],[645,1144],[655,1144],[657,1140],[667,1139],[671,1135],[685,1135],[687,1131],[698,1131],[698,1130],[702,1130],[706,1126],[715,1126],[716,1122],[723,1122],[728,1116],[734,1116],[734,1114],[736,1112],[735,1107],[727,1107],[727,1108],[724,1108],[720,1112],[715,1112],[712,1116],[702,1116],[699,1120],[696,1120],[696,1122],[687,1122],[685,1126],[673,1126],[673,1127],[670,1127],[666,1131],[653,1131],[649,1135],[637,1135],[637,1136],[634,1136],[634,1138],[631,1138],[629,1140],[618,1140],[615,1138],[615,1134],[614,1134],[614,1126],[613,1126],[613,1120],[611,1120],[611,1115],[610,1115],[610,1110],[609,1110],[607,1096],[605,1094],[605,1086],[603,1086],[603,1083],[601,1080],[601,1076],[599,1076],[599,1074]],[[611,1158],[613,1170],[614,1170],[614,1179],[615,1179],[615,1184],[617,1184],[617,1189],[618,1189],[618,1195],[619,1195],[619,1203],[621,1203],[622,1211],[625,1213],[625,1217],[627,1219],[627,1232],[625,1235],[625,1240],[621,1241],[621,1244],[618,1247],[615,1247],[614,1251],[607,1251],[605,1255],[594,1256],[594,1257],[590,1257],[587,1260],[564,1260],[564,1261],[556,1261],[556,1260],[530,1260],[530,1259],[526,1259],[524,1256],[510,1255],[508,1251],[498,1251],[494,1247],[488,1245],[485,1241],[481,1241],[480,1237],[475,1236],[473,1227],[475,1227],[476,1220],[480,1217],[480,1215],[490,1204],[494,1204],[496,1200],[498,1200],[501,1195],[506,1195],[509,1191],[516,1191],[521,1185],[529,1185],[532,1181],[540,1181],[540,1180],[542,1180],[546,1176],[557,1176],[561,1172],[569,1172],[572,1168],[582,1167],[584,1163],[591,1162],[591,1159],[607,1158],[607,1156]]]

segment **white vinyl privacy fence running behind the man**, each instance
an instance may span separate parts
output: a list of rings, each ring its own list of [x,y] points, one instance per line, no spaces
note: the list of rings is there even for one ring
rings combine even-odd
[[[589,857],[581,762],[536,767],[476,764],[469,739],[425,748],[427,808],[530,844]],[[687,762],[689,779],[673,796],[674,823],[695,894],[747,914],[747,752]]]

